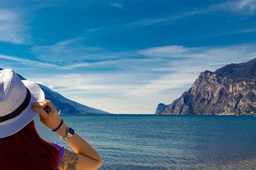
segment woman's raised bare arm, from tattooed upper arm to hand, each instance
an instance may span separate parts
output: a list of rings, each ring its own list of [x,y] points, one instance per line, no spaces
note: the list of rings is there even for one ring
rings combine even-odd
[[[45,106],[51,107],[52,110],[50,113],[45,112]],[[60,125],[61,118],[51,101],[45,100],[34,103],[31,109],[39,113],[40,121],[50,129],[56,129],[56,127]],[[65,137],[67,135],[67,128],[67,124],[63,122],[56,132],[61,137]],[[102,166],[102,159],[99,153],[97,153],[96,150],[94,150],[92,146],[90,146],[90,144],[81,138],[76,132],[72,138],[68,139],[67,143],[74,152],[65,149],[60,165],[61,169],[98,169]]]

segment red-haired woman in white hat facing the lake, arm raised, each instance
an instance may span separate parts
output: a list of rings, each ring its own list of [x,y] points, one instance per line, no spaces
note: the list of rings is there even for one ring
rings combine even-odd
[[[40,138],[34,118],[67,141],[74,152]],[[0,170],[98,169],[102,159],[92,146],[59,117],[33,81],[11,69],[0,71]]]

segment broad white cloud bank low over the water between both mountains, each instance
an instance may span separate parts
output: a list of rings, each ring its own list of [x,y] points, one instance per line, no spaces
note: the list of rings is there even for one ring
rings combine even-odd
[[[66,97],[111,113],[154,113],[158,103],[171,103],[188,90],[200,72],[255,58],[256,45],[170,45],[133,53],[147,58],[106,60],[88,66],[111,67],[111,71],[35,75],[33,79],[51,85]]]

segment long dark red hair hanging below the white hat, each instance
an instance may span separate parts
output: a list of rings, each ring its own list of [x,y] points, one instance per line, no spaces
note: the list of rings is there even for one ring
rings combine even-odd
[[[0,138],[0,170],[57,167],[58,150],[38,135],[34,120],[12,136]]]

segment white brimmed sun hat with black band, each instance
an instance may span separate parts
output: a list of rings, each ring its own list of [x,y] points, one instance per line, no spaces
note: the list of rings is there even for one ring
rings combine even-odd
[[[34,81],[20,80],[12,69],[0,71],[0,138],[28,125],[38,115],[31,104],[44,99],[43,90]]]

